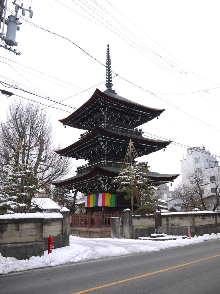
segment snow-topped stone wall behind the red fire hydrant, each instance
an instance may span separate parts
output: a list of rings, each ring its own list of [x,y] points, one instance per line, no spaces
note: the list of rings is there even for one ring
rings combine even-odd
[[[70,245],[69,210],[60,213],[15,213],[0,216],[0,253],[4,257],[27,259],[44,255],[49,235],[54,248]]]

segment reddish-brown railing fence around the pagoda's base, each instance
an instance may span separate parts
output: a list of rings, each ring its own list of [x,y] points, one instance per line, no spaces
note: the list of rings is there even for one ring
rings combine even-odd
[[[138,213],[134,213],[135,215]],[[154,212],[144,213],[154,214]],[[123,212],[94,212],[70,214],[70,228],[111,228],[111,217],[123,217]]]

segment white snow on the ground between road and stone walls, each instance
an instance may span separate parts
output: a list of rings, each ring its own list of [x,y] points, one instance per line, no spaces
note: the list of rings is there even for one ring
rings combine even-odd
[[[78,262],[82,260],[98,259],[108,256],[159,251],[165,248],[185,246],[217,238],[220,238],[220,234],[205,234],[203,236],[195,236],[194,238],[186,239],[177,236],[176,240],[167,241],[112,238],[87,239],[70,236],[70,246],[52,249],[52,253],[49,255],[48,251],[45,251],[44,256],[41,257],[32,256],[29,260],[17,260],[13,257],[5,258],[0,254],[0,274],[18,272],[32,268],[55,266],[58,264]]]

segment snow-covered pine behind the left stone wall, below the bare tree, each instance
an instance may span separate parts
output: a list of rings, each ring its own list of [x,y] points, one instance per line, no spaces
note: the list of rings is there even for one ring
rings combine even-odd
[[[0,183],[0,214],[26,213],[38,191],[38,178],[29,164],[22,163]]]

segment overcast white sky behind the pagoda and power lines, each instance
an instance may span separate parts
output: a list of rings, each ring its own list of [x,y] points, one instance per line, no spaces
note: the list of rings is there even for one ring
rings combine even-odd
[[[68,146],[84,132],[64,129],[58,119],[86,102],[96,88],[106,89],[105,67],[98,61],[106,63],[109,44],[112,71],[118,75],[113,73],[116,93],[145,106],[166,108],[159,120],[144,124],[142,130],[144,136],[172,139],[173,144],[141,161],[148,161],[152,171],[172,174],[181,172],[187,147],[205,146],[220,156],[220,1],[23,0],[25,8],[30,4],[33,18],[28,12],[24,18],[34,25],[20,17],[18,46],[13,47],[22,56],[0,47],[0,81],[44,98],[10,90],[6,84],[0,88],[47,106],[54,104],[47,97],[66,99],[62,103],[67,106],[45,109],[55,145],[61,141]],[[14,7],[8,0],[8,8]],[[9,10],[6,16],[10,14]],[[0,96],[3,122],[14,98],[19,99]],[[84,163],[73,160],[74,166]]]

